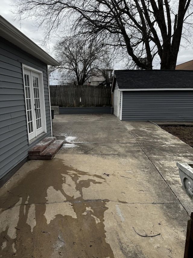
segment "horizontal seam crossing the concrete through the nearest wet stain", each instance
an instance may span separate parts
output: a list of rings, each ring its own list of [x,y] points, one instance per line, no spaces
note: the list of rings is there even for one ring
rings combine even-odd
[[[121,203],[121,204],[179,204],[178,202],[121,202],[121,201],[112,201],[112,200],[107,200],[107,199],[102,199],[102,200],[85,200],[85,201],[55,201],[55,202],[40,202],[40,203],[27,203],[27,204],[19,204],[19,205],[15,205],[15,206],[11,206],[8,208],[0,208],[0,209],[4,209],[3,211],[12,209],[14,207],[19,207],[19,206],[27,206],[27,205],[32,205],[32,204],[40,204],[40,205],[44,205],[44,204],[59,204],[59,203],[74,203],[74,204],[79,204],[79,203],[87,203],[90,201],[108,201],[108,202],[117,202],[117,203]]]

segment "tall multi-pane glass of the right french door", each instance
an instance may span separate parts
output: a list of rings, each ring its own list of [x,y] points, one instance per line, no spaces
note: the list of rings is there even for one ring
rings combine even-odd
[[[40,110],[40,92],[39,92],[39,78],[33,76],[33,92],[34,92],[34,102],[36,110],[36,128],[41,128],[41,110]]]

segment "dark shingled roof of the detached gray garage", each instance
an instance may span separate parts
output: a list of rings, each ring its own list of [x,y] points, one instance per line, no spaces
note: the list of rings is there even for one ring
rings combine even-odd
[[[112,82],[119,89],[178,89],[193,88],[190,70],[115,70]]]

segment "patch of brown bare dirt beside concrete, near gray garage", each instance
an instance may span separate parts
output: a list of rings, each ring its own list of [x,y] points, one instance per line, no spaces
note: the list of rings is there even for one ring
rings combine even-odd
[[[165,131],[177,136],[182,142],[193,147],[193,126],[160,126]]]

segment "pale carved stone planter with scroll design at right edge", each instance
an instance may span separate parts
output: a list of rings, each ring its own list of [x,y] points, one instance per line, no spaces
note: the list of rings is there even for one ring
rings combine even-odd
[[[179,168],[180,179],[186,193],[193,201],[193,163],[176,163]]]

